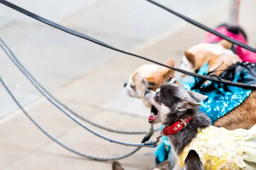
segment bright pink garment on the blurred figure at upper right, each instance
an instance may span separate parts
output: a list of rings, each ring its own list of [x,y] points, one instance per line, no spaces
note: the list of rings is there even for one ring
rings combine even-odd
[[[244,44],[248,44],[245,37],[243,37],[243,34],[239,33],[237,35],[237,34],[234,34],[232,32],[229,32],[225,26],[220,27],[220,28],[216,28],[215,30],[220,32],[223,35],[226,35],[226,36],[231,37],[235,40],[243,42]],[[205,39],[204,42],[205,43],[211,43],[211,42],[218,42],[220,40],[222,40],[222,38],[220,38],[216,35],[213,35],[211,33],[207,33],[206,39]],[[236,47],[236,51],[237,51],[238,56],[241,58],[241,60],[243,62],[245,62],[245,61],[256,62],[256,53],[255,52],[251,52],[249,50],[246,50],[242,47],[239,47],[238,45],[235,45],[235,47]]]

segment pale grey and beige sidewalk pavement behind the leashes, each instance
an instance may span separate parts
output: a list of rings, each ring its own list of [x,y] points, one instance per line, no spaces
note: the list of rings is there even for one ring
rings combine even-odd
[[[164,30],[152,31],[152,34],[144,35],[145,37],[143,37],[143,33],[147,34],[146,32],[134,32],[134,34],[131,34],[131,32],[128,33],[120,27],[118,29],[117,25],[106,25],[104,22],[102,24],[106,26],[105,28],[97,27],[97,24],[94,23],[97,20],[93,20],[93,18],[111,18],[110,14],[108,17],[103,15],[104,10],[102,8],[110,8],[114,4],[122,6],[122,4],[114,2],[117,1],[102,2],[99,6],[94,4],[90,6],[90,10],[80,10],[73,15],[56,20],[70,28],[76,28],[85,33],[90,32],[90,35],[93,35],[95,33],[93,31],[96,31],[98,36],[95,33],[95,37],[111,45],[125,50],[135,49],[133,50],[134,53],[160,62],[164,62],[168,58],[175,58],[179,62],[185,49],[199,43],[205,37],[204,31],[189,24],[179,23],[177,25],[176,23],[174,25],[177,25],[177,27],[174,28],[174,25],[163,26],[161,23],[160,25],[151,23],[152,25],[146,28],[144,24],[148,23],[148,21],[143,21],[145,22],[143,23],[139,17],[134,17],[134,19],[138,19],[142,23],[140,23],[141,25],[135,25],[134,29],[147,29],[148,32],[151,32],[152,30],[157,30],[153,29],[154,25],[159,26],[159,28],[162,27]],[[122,2],[128,3],[128,1]],[[131,3],[132,1],[129,2]],[[175,4],[177,5],[177,3]],[[175,8],[174,5],[171,5],[173,9]],[[248,32],[251,45],[256,43],[256,23],[250,20],[251,16],[255,14],[253,9],[255,5],[255,1],[248,0],[243,1],[241,6],[240,23]],[[123,6],[126,7],[126,4],[123,4]],[[131,7],[131,9],[133,8]],[[199,10],[200,5],[197,9],[193,9]],[[171,14],[160,12],[157,8],[155,10],[165,16],[165,19],[162,18],[163,23],[167,18],[172,18]],[[225,2],[218,7],[208,8],[208,10],[203,16],[194,18],[210,27],[214,27],[227,19],[228,11],[227,3]],[[102,11],[102,15],[98,13],[99,11]],[[113,11],[116,12],[112,13],[113,20],[121,20],[121,15],[117,16],[120,17],[119,19],[114,19],[114,16],[122,13],[120,9],[113,9]],[[121,20],[120,22],[126,23],[127,20]],[[105,21],[107,22],[108,20]],[[123,82],[128,79],[131,72],[139,65],[148,62],[93,45],[85,40],[61,33],[42,24],[29,23],[27,21],[24,21],[24,23],[13,22],[14,24],[9,23],[9,26],[5,25],[0,28],[0,36],[4,40],[6,39],[6,42],[13,48],[22,63],[33,72],[33,75],[43,85],[53,92],[54,96],[76,112],[100,125],[120,130],[147,130],[149,128],[145,118],[148,115],[148,110],[143,107],[140,100],[127,97],[123,92]],[[90,30],[82,30],[82,28]],[[128,27],[123,26],[123,28]],[[102,30],[97,29],[105,30],[108,33],[102,34],[102,37],[100,37],[99,32]],[[32,32],[33,36],[29,32]],[[40,32],[41,34],[39,34]],[[166,33],[163,34],[162,32]],[[48,35],[47,33],[51,34]],[[154,40],[150,40],[151,37],[156,35],[159,36]],[[80,152],[102,157],[113,157],[133,149],[106,142],[72,122],[67,116],[38,95],[38,92],[2,54],[1,52],[0,72],[3,79],[12,87],[19,100],[24,101],[24,104],[26,104],[25,109],[56,138]],[[16,85],[17,83],[19,85]],[[1,105],[1,107],[3,106],[1,114],[2,112],[2,115],[8,114],[8,116],[0,120],[1,170],[111,170],[110,162],[83,159],[52,142],[35,128],[20,110],[15,110],[16,107],[14,107],[13,101],[1,86],[0,94],[1,103],[4,102],[4,105]],[[28,97],[29,95],[31,95],[30,98]],[[10,112],[11,110],[15,111]],[[133,143],[140,142],[143,137],[143,135],[108,133],[94,127],[92,129],[110,138]],[[157,133],[154,136],[156,135]],[[138,153],[120,162],[123,163],[125,170],[151,168],[154,165],[154,150],[152,148],[142,148]]]

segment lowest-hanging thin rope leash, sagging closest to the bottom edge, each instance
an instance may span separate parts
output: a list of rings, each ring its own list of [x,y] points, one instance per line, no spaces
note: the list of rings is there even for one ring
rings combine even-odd
[[[7,92],[9,93],[10,97],[13,99],[13,101],[18,105],[18,107],[20,107],[20,109],[24,112],[24,114],[28,117],[29,120],[31,120],[31,122],[33,122],[34,125],[36,125],[36,127],[38,129],[40,129],[46,136],[48,136],[49,138],[51,138],[51,140],[53,140],[54,142],[56,142],[57,144],[61,145],[61,147],[65,148],[66,150],[69,150],[70,152],[85,157],[85,158],[89,158],[92,160],[101,160],[101,161],[107,161],[107,160],[119,160],[119,159],[123,159],[126,158],[134,153],[136,153],[139,149],[141,149],[141,147],[135,148],[134,150],[132,150],[131,152],[125,154],[125,155],[121,155],[121,156],[117,156],[117,157],[111,157],[111,158],[103,158],[103,157],[95,157],[92,155],[87,155],[84,153],[81,153],[77,150],[74,150],[72,148],[69,148],[67,145],[65,145],[64,143],[61,143],[58,139],[54,138],[53,136],[51,136],[46,130],[44,130],[44,128],[42,128],[37,122],[36,120],[34,120],[29,114],[28,112],[26,112],[26,110],[20,105],[20,103],[18,102],[18,100],[14,97],[13,93],[11,92],[11,90],[7,87],[7,85],[5,84],[5,82],[3,81],[3,79],[0,76],[0,82],[3,84],[3,87],[5,87],[5,90],[7,90]],[[154,131],[149,131],[145,137],[142,140],[142,143],[144,143],[146,140],[149,140],[149,138],[154,134]]]

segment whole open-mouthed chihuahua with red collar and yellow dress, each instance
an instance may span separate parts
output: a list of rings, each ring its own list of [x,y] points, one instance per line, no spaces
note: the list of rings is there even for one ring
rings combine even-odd
[[[144,97],[158,110],[148,122],[165,125],[162,134],[185,170],[256,169],[256,125],[250,130],[211,126],[210,118],[198,111],[207,96],[174,83],[146,90]]]

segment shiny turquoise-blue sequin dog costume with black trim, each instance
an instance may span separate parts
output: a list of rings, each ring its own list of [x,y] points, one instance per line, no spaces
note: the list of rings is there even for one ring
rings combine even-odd
[[[233,82],[242,82],[248,85],[256,84],[256,63],[242,62],[232,65],[226,69],[220,78]],[[201,75],[207,75],[209,65],[206,62],[197,72]],[[228,113],[233,108],[240,105],[251,94],[251,90],[240,87],[218,84],[209,81],[207,85],[204,80],[196,77],[190,77],[179,83],[184,88],[207,95],[208,98],[202,102],[200,111],[205,112],[212,120],[212,124]],[[161,129],[163,125],[161,125]],[[171,160],[172,150],[167,137],[163,137],[161,143],[156,148],[156,163],[164,160]]]

